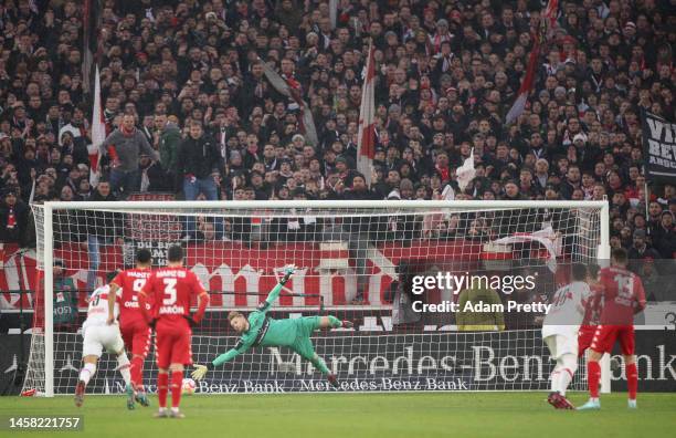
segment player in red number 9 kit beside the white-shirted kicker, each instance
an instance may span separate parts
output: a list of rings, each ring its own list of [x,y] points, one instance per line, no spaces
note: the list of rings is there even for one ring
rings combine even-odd
[[[115,294],[122,289],[122,303],[119,309],[119,331],[125,346],[131,352],[131,385],[127,387],[127,408],[134,409],[134,400],[141,406],[148,406],[148,397],[144,388],[144,361],[150,347],[150,327],[144,320],[138,306],[138,293],[146,285],[146,280],[152,271],[150,251],[140,249],[136,252],[136,268],[122,271],[110,283],[112,293],[108,294],[108,324],[115,322],[113,306]],[[147,310],[150,310],[148,305]]]

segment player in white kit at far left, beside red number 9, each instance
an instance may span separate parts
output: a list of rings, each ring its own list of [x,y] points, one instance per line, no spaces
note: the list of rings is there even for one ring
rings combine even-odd
[[[129,374],[129,358],[125,353],[125,343],[119,333],[119,325],[117,324],[117,315],[119,314],[119,306],[116,300],[115,303],[115,322],[108,324],[108,293],[110,286],[108,284],[95,290],[88,300],[87,319],[82,324],[82,336],[84,342],[82,344],[82,357],[84,366],[80,371],[80,378],[77,386],[75,387],[75,406],[82,406],[84,401],[84,394],[87,384],[94,373],[96,373],[96,363],[101,357],[103,350],[106,348],[108,352],[117,356],[117,369],[125,379],[127,388],[130,388],[131,376]],[[122,289],[118,290],[118,295],[122,293]],[[131,397],[134,392],[131,392]],[[127,398],[129,398],[129,392],[127,392]],[[134,400],[131,399],[131,407],[129,407],[129,399],[127,399],[127,407],[134,408]]]

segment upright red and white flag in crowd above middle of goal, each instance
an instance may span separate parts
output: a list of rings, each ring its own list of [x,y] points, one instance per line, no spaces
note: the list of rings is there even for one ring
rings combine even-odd
[[[373,43],[369,45],[363,87],[361,90],[361,107],[359,108],[359,134],[357,144],[357,170],[371,184],[371,171],[376,156],[376,60]]]

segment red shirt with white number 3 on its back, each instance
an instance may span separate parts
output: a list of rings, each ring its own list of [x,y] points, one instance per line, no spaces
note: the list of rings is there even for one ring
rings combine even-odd
[[[204,286],[194,274],[186,268],[161,268],[148,279],[146,294],[155,303],[154,317],[169,325],[187,324],[183,316],[190,315],[192,298],[205,294]]]

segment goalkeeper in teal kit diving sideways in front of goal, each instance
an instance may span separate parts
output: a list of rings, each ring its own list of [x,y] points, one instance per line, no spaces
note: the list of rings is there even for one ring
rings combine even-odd
[[[295,267],[293,265],[286,268],[284,278],[270,292],[265,302],[261,303],[256,311],[249,314],[249,317],[236,311],[229,313],[228,320],[232,328],[240,334],[240,341],[234,348],[221,354],[213,362],[207,365],[194,365],[196,369],[192,372],[192,378],[200,380],[208,371],[232,361],[235,356],[252,347],[286,346],[300,357],[309,361],[315,368],[326,376],[331,386],[335,388],[340,386],[336,375],[331,374],[324,359],[315,353],[310,335],[319,328],[351,328],[353,326],[351,321],[340,321],[330,315],[305,316],[293,320],[274,320],[267,316],[267,312],[279,296],[282,288],[291,279],[294,271]]]

